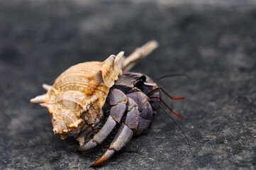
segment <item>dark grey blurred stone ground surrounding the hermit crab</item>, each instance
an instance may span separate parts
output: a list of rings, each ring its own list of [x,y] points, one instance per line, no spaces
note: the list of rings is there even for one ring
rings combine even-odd
[[[256,168],[256,1],[0,1],[0,169],[89,169],[53,135],[46,108],[29,103],[68,67],[103,61],[155,39],[132,69],[160,81],[191,143],[159,111],[150,130],[99,169]]]

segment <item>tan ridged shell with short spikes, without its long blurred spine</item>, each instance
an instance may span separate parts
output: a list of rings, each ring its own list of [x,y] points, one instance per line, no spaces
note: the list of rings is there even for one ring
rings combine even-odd
[[[53,131],[62,133],[62,138],[79,133],[78,127],[84,124],[93,128],[103,117],[101,108],[109,89],[122,73],[122,60],[123,52],[120,52],[104,62],[76,64],[57,77],[53,86],[43,84],[48,92],[31,102],[48,108]]]

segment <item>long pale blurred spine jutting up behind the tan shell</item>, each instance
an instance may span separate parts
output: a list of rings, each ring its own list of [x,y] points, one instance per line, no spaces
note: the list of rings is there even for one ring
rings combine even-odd
[[[134,52],[126,57],[126,59],[123,60],[123,72],[128,72],[135,65],[137,60],[146,57],[157,47],[158,42],[156,40],[150,40],[142,47],[138,47]]]

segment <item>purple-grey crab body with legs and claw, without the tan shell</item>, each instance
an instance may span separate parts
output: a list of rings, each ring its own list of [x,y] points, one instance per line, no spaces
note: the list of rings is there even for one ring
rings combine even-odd
[[[108,118],[104,126],[88,142],[80,143],[79,152],[87,151],[104,142],[106,137],[116,126],[120,125],[116,137],[105,154],[91,166],[98,166],[122,149],[134,135],[140,135],[152,123],[153,114],[158,106],[150,104],[150,96],[160,97],[159,91],[152,79],[143,74],[128,72],[120,75],[110,89],[104,113]],[[150,94],[149,96],[147,94]],[[159,101],[159,99],[156,99]]]

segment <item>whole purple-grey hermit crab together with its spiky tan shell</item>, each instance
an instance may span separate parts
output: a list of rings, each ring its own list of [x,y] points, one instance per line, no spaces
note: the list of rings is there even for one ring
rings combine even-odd
[[[98,166],[121,150],[131,137],[146,130],[161,106],[161,88],[144,74],[128,72],[137,60],[156,47],[157,42],[152,40],[128,57],[119,52],[104,62],[76,64],[57,77],[52,86],[43,84],[47,93],[30,102],[48,108],[53,132],[59,133],[63,140],[75,137],[79,152],[100,145],[119,127],[104,155],[91,164]]]

